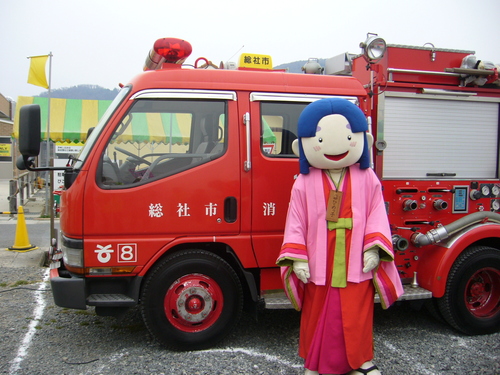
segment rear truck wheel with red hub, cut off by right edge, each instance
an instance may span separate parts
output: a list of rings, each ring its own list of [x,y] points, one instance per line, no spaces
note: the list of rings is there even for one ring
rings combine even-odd
[[[444,319],[468,335],[500,329],[500,251],[472,246],[451,268],[446,292],[438,299]]]

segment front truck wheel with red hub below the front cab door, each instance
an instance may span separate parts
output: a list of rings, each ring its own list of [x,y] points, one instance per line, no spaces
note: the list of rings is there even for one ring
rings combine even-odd
[[[213,346],[234,328],[242,307],[243,291],[234,270],[203,250],[164,259],[147,277],[141,296],[148,330],[175,350]]]

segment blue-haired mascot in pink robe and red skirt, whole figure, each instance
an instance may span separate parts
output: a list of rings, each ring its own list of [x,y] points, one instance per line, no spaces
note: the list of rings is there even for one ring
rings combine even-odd
[[[302,311],[306,374],[380,374],[371,362],[375,290],[383,308],[403,294],[367,130],[346,99],[313,102],[298,120],[300,175],[277,264]]]

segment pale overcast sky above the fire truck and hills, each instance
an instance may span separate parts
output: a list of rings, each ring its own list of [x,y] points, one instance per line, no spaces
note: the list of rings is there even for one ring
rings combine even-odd
[[[27,57],[49,52],[53,89],[116,88],[142,71],[162,37],[189,41],[188,63],[246,52],[271,55],[276,66],[358,53],[371,32],[500,64],[499,14],[499,0],[0,0],[0,93],[45,91],[26,82]]]

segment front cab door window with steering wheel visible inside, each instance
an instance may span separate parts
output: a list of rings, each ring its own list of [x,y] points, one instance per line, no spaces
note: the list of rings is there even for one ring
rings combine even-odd
[[[136,100],[109,139],[99,183],[142,184],[220,157],[227,141],[225,111],[220,100]]]

